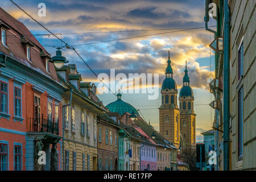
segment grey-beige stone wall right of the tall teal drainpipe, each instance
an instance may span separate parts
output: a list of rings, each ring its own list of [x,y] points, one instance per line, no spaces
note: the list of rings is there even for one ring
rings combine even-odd
[[[231,169],[256,169],[255,1],[229,1],[230,6],[230,115]],[[241,45],[242,44],[242,45]],[[243,78],[239,78],[239,50],[243,47]],[[238,86],[243,88],[242,156],[238,156]]]

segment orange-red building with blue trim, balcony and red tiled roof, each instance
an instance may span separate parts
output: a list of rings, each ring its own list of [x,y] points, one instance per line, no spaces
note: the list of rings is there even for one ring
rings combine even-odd
[[[1,8],[0,28],[0,170],[59,170],[65,88],[46,49]]]

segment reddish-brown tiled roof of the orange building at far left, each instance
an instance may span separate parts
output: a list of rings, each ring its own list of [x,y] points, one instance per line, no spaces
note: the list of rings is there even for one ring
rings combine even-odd
[[[0,43],[0,52],[5,53],[7,56],[12,57],[14,60],[34,69],[35,71],[58,81],[57,74],[53,63],[49,63],[49,73],[46,71],[46,63],[40,56],[40,50],[45,55],[50,56],[44,47],[36,40],[27,27],[19,20],[8,14],[0,7],[0,22],[9,27],[10,30],[6,31],[6,43],[4,46]],[[20,36],[25,36],[26,42],[33,46],[31,47],[31,61],[27,60],[26,49],[24,48]]]

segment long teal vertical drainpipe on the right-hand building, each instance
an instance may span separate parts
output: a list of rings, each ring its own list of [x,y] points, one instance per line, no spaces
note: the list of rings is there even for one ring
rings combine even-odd
[[[229,170],[229,59],[230,59],[230,10],[224,0],[224,170]]]

